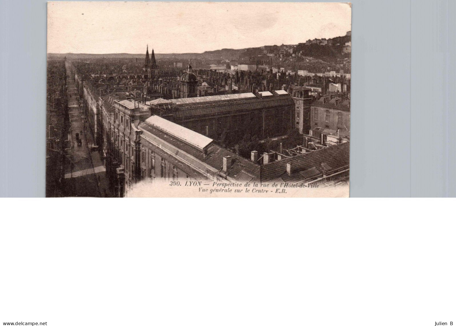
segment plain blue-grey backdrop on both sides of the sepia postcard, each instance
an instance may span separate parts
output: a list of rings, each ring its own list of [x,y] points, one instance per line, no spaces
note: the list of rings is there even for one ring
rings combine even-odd
[[[0,15],[0,196],[44,197],[46,1]],[[454,0],[352,0],[351,197],[456,196],[455,17]]]

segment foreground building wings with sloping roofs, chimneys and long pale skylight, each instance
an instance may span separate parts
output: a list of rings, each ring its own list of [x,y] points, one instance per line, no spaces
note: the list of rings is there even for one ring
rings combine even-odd
[[[348,176],[349,143],[328,146],[307,139],[287,153],[243,158],[214,140],[159,116],[138,126],[141,178],[228,180],[230,182],[314,183]]]

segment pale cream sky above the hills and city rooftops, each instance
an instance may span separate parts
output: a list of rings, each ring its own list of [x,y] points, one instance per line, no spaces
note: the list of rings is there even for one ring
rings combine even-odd
[[[48,53],[204,52],[351,30],[347,3],[48,2]]]

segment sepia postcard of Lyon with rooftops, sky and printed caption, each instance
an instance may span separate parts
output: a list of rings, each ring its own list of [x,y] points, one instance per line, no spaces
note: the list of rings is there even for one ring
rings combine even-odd
[[[350,3],[48,2],[47,197],[347,197]]]

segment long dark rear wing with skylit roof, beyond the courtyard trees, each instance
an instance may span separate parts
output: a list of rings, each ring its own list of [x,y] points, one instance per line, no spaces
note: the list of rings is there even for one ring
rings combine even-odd
[[[152,114],[232,146],[245,135],[260,139],[286,134],[295,123],[290,94],[274,92],[228,94],[146,102]]]

